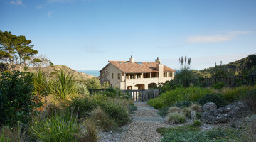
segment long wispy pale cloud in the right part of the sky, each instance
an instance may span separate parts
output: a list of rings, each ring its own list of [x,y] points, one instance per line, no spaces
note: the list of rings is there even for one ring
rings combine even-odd
[[[196,35],[188,37],[186,40],[188,43],[220,43],[229,40],[233,40],[238,35],[244,35],[253,33],[252,31],[228,31],[219,35]]]

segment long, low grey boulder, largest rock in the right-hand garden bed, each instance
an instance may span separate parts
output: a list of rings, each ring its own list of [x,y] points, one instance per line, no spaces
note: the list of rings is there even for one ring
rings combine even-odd
[[[244,116],[244,114],[249,111],[247,108],[248,107],[246,107],[245,103],[242,101],[234,102],[228,106],[204,112],[201,116],[201,121],[208,124],[233,121]]]

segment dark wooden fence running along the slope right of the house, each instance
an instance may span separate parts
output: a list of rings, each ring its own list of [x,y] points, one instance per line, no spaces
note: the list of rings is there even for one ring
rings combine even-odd
[[[188,84],[200,84],[203,87],[211,87],[218,82],[225,82],[226,87],[237,87],[241,84],[255,83],[256,75],[230,76],[230,77],[212,77],[188,80]]]

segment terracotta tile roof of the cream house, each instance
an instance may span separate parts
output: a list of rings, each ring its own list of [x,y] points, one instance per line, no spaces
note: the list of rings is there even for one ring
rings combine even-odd
[[[138,64],[136,62],[129,61],[109,61],[112,65],[122,70],[122,72],[159,72],[156,70],[158,62],[141,62],[142,64]],[[164,72],[176,72],[164,65]]]

